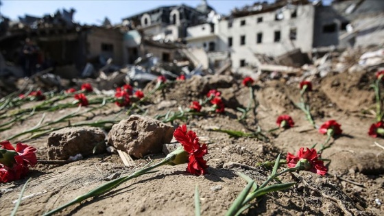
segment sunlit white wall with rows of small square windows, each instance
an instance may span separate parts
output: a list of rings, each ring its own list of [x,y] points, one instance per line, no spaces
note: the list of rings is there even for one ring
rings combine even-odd
[[[228,20],[220,21],[217,26],[219,51],[231,51],[232,68],[240,66],[240,60],[247,64],[256,65],[254,53],[264,53],[270,56],[279,56],[292,49],[300,48],[303,52],[311,51],[313,46],[314,6],[299,5],[297,17],[291,18],[293,10],[284,10],[283,20],[275,21],[276,12],[265,12],[236,18],[232,20],[232,27],[228,28]],[[258,17],[263,17],[257,23]],[[241,26],[241,21],[245,25]],[[296,27],[296,40],[289,39],[291,27]],[[280,42],[274,42],[274,32],[280,31]],[[256,34],[263,34],[262,43],[256,44]],[[240,45],[240,37],[245,36],[245,45]],[[232,47],[228,47],[228,37],[232,37]]]

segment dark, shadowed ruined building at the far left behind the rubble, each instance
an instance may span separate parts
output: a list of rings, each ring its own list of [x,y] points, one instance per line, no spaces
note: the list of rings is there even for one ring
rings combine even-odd
[[[108,58],[123,64],[123,33],[113,27],[79,25],[72,20],[74,12],[62,10],[43,17],[26,15],[19,18],[19,23],[8,24],[7,32],[0,37],[3,58],[22,65],[22,49],[28,38],[38,47],[38,67],[49,64],[64,78],[80,76],[87,63],[102,65]],[[23,76],[21,69],[16,75]]]

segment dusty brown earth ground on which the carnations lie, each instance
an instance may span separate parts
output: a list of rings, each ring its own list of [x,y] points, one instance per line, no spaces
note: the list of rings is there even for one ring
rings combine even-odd
[[[287,173],[280,180],[297,182],[295,186],[261,197],[243,215],[384,214],[384,205],[376,202],[384,202],[384,149],[374,145],[374,141],[381,145],[384,142],[368,136],[368,129],[374,123],[374,115],[370,112],[374,110],[374,93],[369,88],[374,79],[373,73],[361,72],[328,75],[322,80],[312,81],[313,91],[309,98],[316,124],[335,119],[343,130],[341,136],[331,139],[332,147],[324,150],[322,155],[331,160],[328,175],[322,177],[307,171]],[[153,87],[154,83],[148,84],[144,92]],[[280,152],[285,157],[287,152],[296,153],[300,147],[311,147],[326,139],[294,106],[299,101],[298,84],[286,84],[285,80],[256,82],[254,93],[259,102],[256,116],[250,112],[243,122],[237,121],[241,113],[236,108],[248,104],[248,88],[241,85],[241,77],[230,75],[193,77],[174,82],[156,92],[143,108],[149,117],[165,114],[168,110],[176,111],[178,106],[187,108],[191,101],[203,99],[213,88],[222,93],[226,104],[224,115],[211,113],[173,123],[174,127],[187,123],[189,130],[195,131],[208,143],[208,154],[204,157],[209,165],[208,174],[192,176],[185,171],[186,165],[163,166],[156,173],[125,182],[110,193],[70,206],[57,215],[194,215],[196,185],[200,191],[202,215],[224,215],[246,185],[237,176],[237,171],[261,184],[271,170],[257,167],[256,163],[274,160]],[[45,121],[58,119],[75,109],[47,112]],[[112,117],[119,110],[115,104],[109,104],[89,114],[88,121]],[[268,134],[269,142],[256,138],[232,138],[210,130],[221,128],[251,132],[258,125],[269,130],[276,128],[276,118],[282,114],[290,115],[296,125]],[[0,140],[33,127],[40,118],[41,114],[38,114],[16,123],[12,130],[0,133]],[[29,139],[29,135],[25,135],[11,142],[16,141],[33,145],[38,149],[39,159],[48,159],[47,136]],[[164,156],[153,154],[136,159],[135,167],[125,167],[118,155],[108,153],[95,154],[67,165],[38,164],[29,173],[32,180],[24,194],[35,195],[23,200],[18,215],[42,215],[103,184],[112,173],[128,175],[149,160],[160,160]],[[0,185],[1,215],[10,214],[14,208],[12,201],[19,197],[26,180]]]

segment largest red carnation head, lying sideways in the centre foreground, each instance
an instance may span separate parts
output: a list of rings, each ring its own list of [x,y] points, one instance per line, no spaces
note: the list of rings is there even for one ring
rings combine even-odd
[[[173,132],[173,136],[189,154],[187,171],[193,175],[204,175],[206,173],[206,160],[203,156],[208,153],[206,144],[200,144],[196,133],[192,130],[187,131],[187,125],[181,125]]]

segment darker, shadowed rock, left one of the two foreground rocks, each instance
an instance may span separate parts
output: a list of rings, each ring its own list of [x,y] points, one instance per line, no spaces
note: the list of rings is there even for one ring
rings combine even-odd
[[[51,132],[48,137],[48,157],[51,160],[67,160],[70,156],[91,155],[97,143],[106,138],[99,128],[74,127]]]

